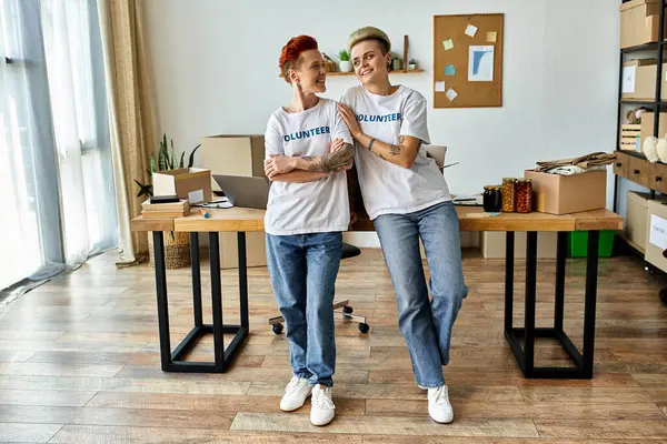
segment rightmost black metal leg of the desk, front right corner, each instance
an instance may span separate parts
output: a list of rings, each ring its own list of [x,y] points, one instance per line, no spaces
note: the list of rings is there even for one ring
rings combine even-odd
[[[584,377],[593,377],[599,234],[599,231],[588,232],[588,249],[586,253],[586,302],[584,305]]]

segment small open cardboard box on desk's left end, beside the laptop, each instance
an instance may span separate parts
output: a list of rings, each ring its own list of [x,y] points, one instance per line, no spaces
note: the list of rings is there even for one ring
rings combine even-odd
[[[152,174],[153,195],[173,195],[191,204],[213,200],[211,171],[201,168],[181,168]]]

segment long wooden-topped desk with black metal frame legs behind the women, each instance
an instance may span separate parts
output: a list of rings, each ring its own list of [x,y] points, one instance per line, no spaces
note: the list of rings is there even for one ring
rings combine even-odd
[[[593,377],[593,356],[595,345],[595,311],[597,297],[598,242],[600,230],[621,230],[623,218],[607,210],[583,213],[552,215],[545,213],[498,214],[490,216],[477,206],[457,208],[461,231],[502,231],[506,238],[505,258],[505,336],[517,359],[517,363],[526,377],[549,379],[590,379]],[[209,210],[210,218],[205,219],[198,212],[177,219],[132,220],[132,230],[152,231],[156,289],[158,296],[158,320],[160,330],[160,353],[162,370],[166,372],[223,372],[238,346],[248,334],[248,280],[246,266],[246,232],[263,231],[263,210],[232,208],[227,210]],[[369,220],[360,220],[352,231],[372,231]],[[171,352],[169,340],[169,316],[167,311],[167,281],[165,269],[163,231],[190,233],[190,254],[192,258],[192,292],[195,304],[195,327],[186,339]],[[526,245],[526,299],[524,327],[512,325],[514,311],[514,265],[515,232],[527,232]],[[536,274],[537,274],[537,235],[540,231],[558,232],[556,258],[556,304],[552,327],[535,326]],[[588,231],[588,256],[586,266],[586,296],[584,314],[584,349],[581,352],[573,344],[563,329],[565,305],[565,269],[567,256],[567,233]],[[198,233],[209,233],[209,259],[211,270],[211,297],[213,324],[205,325],[201,315],[201,283],[199,265]],[[220,252],[218,232],[238,233],[239,255],[239,297],[241,324],[225,325],[222,323],[222,302],[220,286]],[[593,254],[590,254],[593,252]],[[215,362],[193,363],[182,357],[192,349],[197,340],[207,333],[213,334]],[[235,334],[227,350],[223,349],[222,334]],[[535,339],[551,337],[560,342],[576,367],[536,367]],[[524,347],[521,341],[524,340]]]

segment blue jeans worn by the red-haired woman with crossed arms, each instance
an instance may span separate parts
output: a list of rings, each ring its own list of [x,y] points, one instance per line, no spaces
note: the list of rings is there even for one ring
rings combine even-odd
[[[295,376],[332,386],[336,367],[334,293],[342,233],[267,234],[273,293],[285,319]]]

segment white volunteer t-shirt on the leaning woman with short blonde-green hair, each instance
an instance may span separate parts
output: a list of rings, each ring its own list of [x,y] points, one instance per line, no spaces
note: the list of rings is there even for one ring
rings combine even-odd
[[[341,102],[357,117],[364,133],[398,144],[400,135],[430,143],[426,122],[426,99],[419,92],[399,87],[390,95],[378,95],[365,87],[347,90]],[[451,200],[449,188],[436,161],[421,145],[415,164],[406,169],[356,143],[355,162],[364,205],[370,219],[382,214],[406,214]]]

